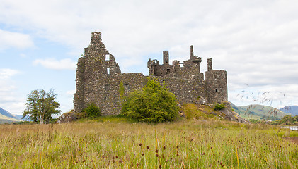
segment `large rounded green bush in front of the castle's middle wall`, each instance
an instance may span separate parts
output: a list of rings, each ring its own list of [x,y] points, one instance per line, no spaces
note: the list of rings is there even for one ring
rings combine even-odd
[[[169,92],[165,84],[148,79],[145,87],[130,93],[122,104],[122,113],[132,119],[161,123],[178,117],[176,96]]]

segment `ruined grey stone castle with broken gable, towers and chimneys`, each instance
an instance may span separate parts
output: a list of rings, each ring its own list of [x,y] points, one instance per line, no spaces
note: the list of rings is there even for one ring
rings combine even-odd
[[[209,104],[228,101],[227,72],[213,70],[212,59],[207,59],[207,72],[200,73],[202,58],[193,54],[190,46],[188,61],[169,63],[168,51],[163,51],[164,61],[149,59],[149,76],[142,73],[121,73],[115,57],[105,49],[101,32],[93,32],[85,54],[79,58],[76,70],[74,112],[80,113],[88,104],[95,103],[103,115],[121,111],[121,103],[128,92],[144,87],[148,77],[165,82],[177,96],[180,104],[193,103],[204,97]]]

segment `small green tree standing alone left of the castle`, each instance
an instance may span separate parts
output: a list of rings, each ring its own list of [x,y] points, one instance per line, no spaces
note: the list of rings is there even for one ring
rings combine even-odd
[[[45,92],[44,89],[31,91],[25,103],[26,108],[23,112],[23,119],[40,124],[50,123],[52,115],[60,112],[57,110],[60,104],[54,101],[56,95],[52,89],[50,89],[50,92]]]

